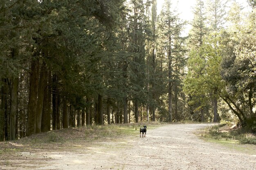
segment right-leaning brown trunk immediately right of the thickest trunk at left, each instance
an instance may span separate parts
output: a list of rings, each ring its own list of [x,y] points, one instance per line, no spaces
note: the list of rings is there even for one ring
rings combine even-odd
[[[45,62],[43,62],[40,69],[40,79],[39,79],[39,85],[38,85],[38,98],[37,98],[37,108],[36,108],[36,133],[41,132],[42,115],[43,115],[43,99],[44,99],[44,92],[45,92],[46,77],[47,77],[46,64]]]

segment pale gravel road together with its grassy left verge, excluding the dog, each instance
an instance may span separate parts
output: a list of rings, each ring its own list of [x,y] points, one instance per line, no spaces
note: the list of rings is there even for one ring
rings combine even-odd
[[[124,135],[126,126],[51,131],[0,142],[0,170],[256,170],[256,146],[205,141],[211,125],[147,124],[144,138],[137,126]]]

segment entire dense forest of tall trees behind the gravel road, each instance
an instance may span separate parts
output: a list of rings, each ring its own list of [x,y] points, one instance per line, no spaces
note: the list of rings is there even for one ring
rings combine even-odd
[[[171,0],[1,0],[0,141],[139,121],[256,130],[247,2],[197,0],[184,21]]]

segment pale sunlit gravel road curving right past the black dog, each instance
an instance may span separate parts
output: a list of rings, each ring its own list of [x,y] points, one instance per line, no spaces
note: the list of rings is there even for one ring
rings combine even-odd
[[[172,124],[128,137],[83,146],[77,152],[49,152],[38,170],[256,170],[254,155],[199,139],[194,132],[211,124]],[[256,149],[255,149],[256,151]]]

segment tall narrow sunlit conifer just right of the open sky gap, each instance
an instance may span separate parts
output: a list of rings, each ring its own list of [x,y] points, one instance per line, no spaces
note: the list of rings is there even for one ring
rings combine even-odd
[[[203,90],[203,74],[205,67],[204,40],[207,35],[206,12],[204,2],[197,0],[197,4],[193,8],[194,18],[191,22],[192,29],[189,32],[189,60],[188,74],[184,80],[184,90],[189,93],[189,107],[191,113],[200,112],[201,121],[204,121],[203,108],[208,104],[208,98]],[[201,84],[201,85],[200,85]],[[200,88],[200,89],[199,89]]]

